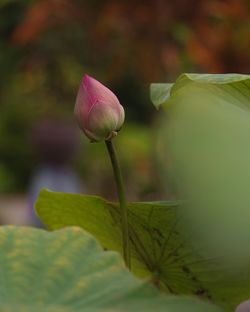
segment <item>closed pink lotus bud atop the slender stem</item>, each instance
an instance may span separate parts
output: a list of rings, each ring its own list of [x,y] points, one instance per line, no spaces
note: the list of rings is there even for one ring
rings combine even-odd
[[[124,109],[107,87],[84,75],[77,94],[75,116],[79,127],[94,142],[110,140],[124,122]]]

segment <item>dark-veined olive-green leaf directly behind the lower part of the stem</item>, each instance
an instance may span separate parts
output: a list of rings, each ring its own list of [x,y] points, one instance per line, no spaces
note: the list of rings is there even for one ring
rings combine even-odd
[[[238,277],[230,279],[217,260],[185,246],[178,232],[179,202],[130,203],[129,223],[132,271],[148,276],[165,291],[193,294],[231,311],[249,295]],[[116,204],[95,196],[43,190],[36,211],[50,230],[78,225],[95,235],[102,246],[121,252],[120,214]]]

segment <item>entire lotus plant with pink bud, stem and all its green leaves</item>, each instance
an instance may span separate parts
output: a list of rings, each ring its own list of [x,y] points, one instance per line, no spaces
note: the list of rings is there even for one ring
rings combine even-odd
[[[0,229],[1,311],[229,312],[249,299],[250,76],[183,74],[151,98],[179,199],[127,201],[113,144],[124,108],[85,75],[75,116],[105,143],[119,202],[42,190],[49,231]]]

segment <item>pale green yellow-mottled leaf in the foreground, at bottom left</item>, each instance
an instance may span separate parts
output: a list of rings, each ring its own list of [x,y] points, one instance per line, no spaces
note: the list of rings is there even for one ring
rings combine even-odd
[[[0,268],[1,312],[219,311],[159,294],[77,227],[53,233],[1,227]]]

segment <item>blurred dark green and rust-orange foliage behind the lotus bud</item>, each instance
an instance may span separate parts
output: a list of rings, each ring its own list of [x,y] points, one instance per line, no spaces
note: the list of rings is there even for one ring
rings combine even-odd
[[[88,73],[126,110],[116,143],[129,198],[165,197],[155,170],[149,83],[181,72],[249,73],[249,47],[248,0],[1,0],[0,192],[27,190],[39,163],[34,125],[73,123],[76,92]],[[112,197],[103,145],[78,134],[76,172],[88,192]]]

